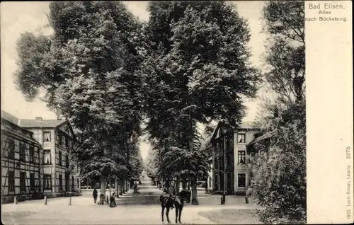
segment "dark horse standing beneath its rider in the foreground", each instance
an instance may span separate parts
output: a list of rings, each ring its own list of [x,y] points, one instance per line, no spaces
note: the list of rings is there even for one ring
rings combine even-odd
[[[164,223],[164,211],[166,208],[167,222],[171,223],[169,219],[169,212],[170,212],[170,208],[174,206],[176,209],[176,224],[177,221],[181,224],[181,214],[182,214],[182,209],[185,201],[190,202],[190,192],[187,190],[181,190],[181,192],[178,193],[176,199],[171,199],[169,196],[161,195],[160,202],[162,208],[161,209],[162,222]]]

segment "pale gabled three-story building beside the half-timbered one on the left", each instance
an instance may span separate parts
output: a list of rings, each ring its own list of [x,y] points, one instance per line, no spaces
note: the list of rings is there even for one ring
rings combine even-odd
[[[78,168],[70,161],[75,142],[72,126],[66,120],[20,120],[21,127],[33,132],[42,144],[43,192],[52,197],[79,191]]]

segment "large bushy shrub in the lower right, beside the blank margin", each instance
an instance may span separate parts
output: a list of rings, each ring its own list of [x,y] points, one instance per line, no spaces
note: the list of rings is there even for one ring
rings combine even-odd
[[[293,116],[291,116],[293,115]],[[292,118],[291,120],[287,120]],[[297,119],[298,118],[298,119]],[[252,161],[254,174],[250,193],[263,209],[261,221],[268,224],[306,222],[306,127],[304,105],[292,105],[280,115],[270,146]]]

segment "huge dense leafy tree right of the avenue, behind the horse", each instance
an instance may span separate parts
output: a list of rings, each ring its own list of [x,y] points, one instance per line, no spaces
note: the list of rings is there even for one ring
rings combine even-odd
[[[197,122],[236,125],[244,115],[242,98],[256,93],[258,74],[246,48],[249,28],[226,1],[153,1],[148,9],[151,47],[142,67],[147,130],[166,153],[185,153],[178,160],[191,165],[192,203],[198,204],[193,169],[206,162],[195,155]]]

